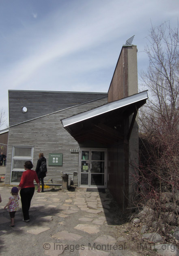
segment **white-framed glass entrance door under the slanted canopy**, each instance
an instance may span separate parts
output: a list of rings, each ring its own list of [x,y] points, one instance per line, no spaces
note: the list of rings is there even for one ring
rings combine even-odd
[[[106,149],[82,149],[80,187],[106,187]]]

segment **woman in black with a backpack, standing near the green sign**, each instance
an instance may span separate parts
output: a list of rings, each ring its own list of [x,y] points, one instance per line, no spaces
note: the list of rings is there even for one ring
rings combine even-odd
[[[39,182],[42,185],[42,191],[44,192],[44,182],[43,178],[46,176],[47,173],[47,164],[46,158],[43,156],[43,153],[39,153],[39,159],[37,161],[37,167],[35,171],[37,172],[37,176],[39,178]]]

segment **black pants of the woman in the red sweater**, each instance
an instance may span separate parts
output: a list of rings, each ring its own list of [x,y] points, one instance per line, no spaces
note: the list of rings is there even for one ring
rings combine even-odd
[[[32,200],[32,197],[34,195],[35,188],[24,188],[20,190],[21,195],[21,202],[22,202],[22,212],[24,215],[24,220],[29,219],[29,208],[30,208],[30,202]]]

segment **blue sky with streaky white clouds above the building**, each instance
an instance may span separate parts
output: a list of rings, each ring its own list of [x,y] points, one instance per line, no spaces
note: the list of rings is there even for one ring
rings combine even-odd
[[[0,0],[0,109],[8,90],[108,92],[126,40],[138,72],[153,26],[177,26],[179,0]]]

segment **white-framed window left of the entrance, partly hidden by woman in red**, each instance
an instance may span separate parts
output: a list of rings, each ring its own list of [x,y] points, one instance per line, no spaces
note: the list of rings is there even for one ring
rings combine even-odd
[[[24,163],[32,161],[32,146],[14,146],[12,157],[11,184],[19,184],[24,171]]]

